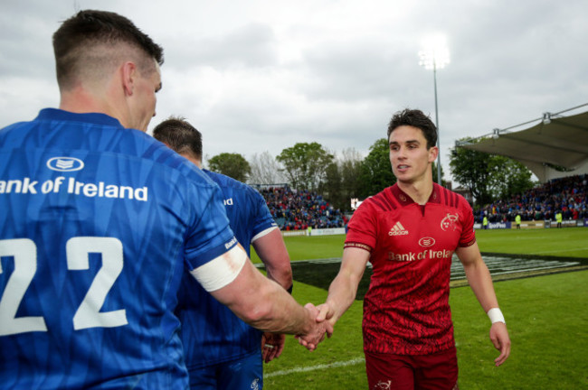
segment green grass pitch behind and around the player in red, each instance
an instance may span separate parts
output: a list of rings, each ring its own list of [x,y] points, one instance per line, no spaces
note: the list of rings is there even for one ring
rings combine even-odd
[[[477,232],[483,253],[548,255],[588,260],[588,228]],[[286,237],[292,262],[340,257],[345,237]],[[252,252],[252,260],[259,258]],[[584,263],[585,264],[585,263]],[[294,298],[319,304],[327,285],[296,281]],[[320,267],[317,268],[318,272]],[[329,271],[331,274],[335,271]],[[330,278],[331,275],[329,274]],[[489,320],[468,286],[452,288],[450,305],[460,365],[460,388],[588,388],[588,271],[545,274],[494,283],[507,319],[512,352],[502,367],[489,339]],[[313,352],[286,340],[281,357],[264,365],[264,388],[365,389],[362,301],[339,320],[335,334]]]

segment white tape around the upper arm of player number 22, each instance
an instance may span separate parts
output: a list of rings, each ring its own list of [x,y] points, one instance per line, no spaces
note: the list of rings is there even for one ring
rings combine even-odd
[[[223,255],[190,271],[190,274],[202,284],[204,290],[213,292],[235,280],[246,261],[247,254],[242,247],[233,246]]]

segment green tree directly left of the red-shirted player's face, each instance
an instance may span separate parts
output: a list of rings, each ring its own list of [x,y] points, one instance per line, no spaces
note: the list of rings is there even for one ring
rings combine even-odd
[[[370,152],[361,164],[358,198],[365,199],[375,195],[396,182],[390,165],[389,151],[386,138],[380,138],[370,146]]]

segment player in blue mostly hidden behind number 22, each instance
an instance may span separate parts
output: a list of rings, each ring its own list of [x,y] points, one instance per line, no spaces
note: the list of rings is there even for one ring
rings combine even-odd
[[[202,135],[183,118],[172,117],[156,125],[153,136],[202,168]],[[252,244],[268,270],[268,277],[291,292],[288,251],[261,194],[241,181],[203,171],[221,187],[227,216],[239,243],[248,255]],[[191,388],[261,389],[261,350],[266,362],[280,356],[284,335],[266,333],[260,344],[261,332],[216,302],[190,274],[185,274],[180,292],[177,312],[182,321]]]

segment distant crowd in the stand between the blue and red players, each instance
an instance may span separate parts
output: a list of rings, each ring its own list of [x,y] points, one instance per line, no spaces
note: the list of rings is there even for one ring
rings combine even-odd
[[[281,230],[344,228],[346,216],[321,195],[309,190],[291,190],[289,186],[260,189],[272,217]]]

